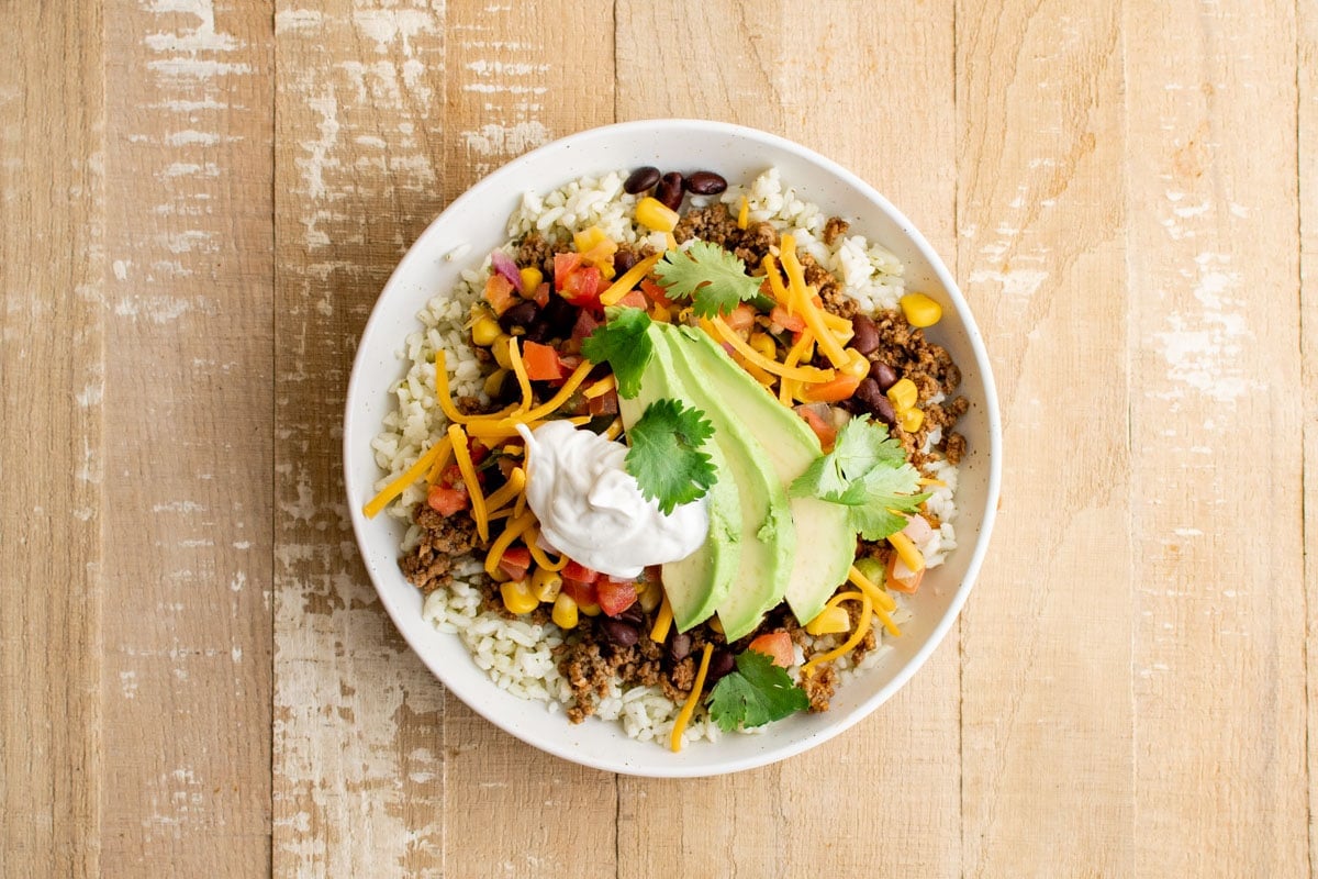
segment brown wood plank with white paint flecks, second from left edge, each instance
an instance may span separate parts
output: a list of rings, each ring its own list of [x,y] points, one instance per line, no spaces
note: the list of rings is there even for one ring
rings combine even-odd
[[[264,4],[107,4],[104,865],[269,870]]]

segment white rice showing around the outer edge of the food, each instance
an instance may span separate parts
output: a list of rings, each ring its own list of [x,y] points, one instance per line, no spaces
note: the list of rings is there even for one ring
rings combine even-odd
[[[660,233],[647,235],[631,223],[637,196],[622,191],[625,173],[609,173],[600,178],[581,178],[546,195],[527,192],[509,217],[510,244],[503,249],[511,256],[511,240],[535,229],[540,233],[565,236],[598,225],[616,241],[637,245],[648,242],[655,249],[666,246]],[[753,223],[768,221],[780,233],[791,233],[797,245],[811,253],[821,266],[842,283],[846,295],[857,300],[862,311],[895,308],[903,293],[902,262],[887,249],[869,242],[863,236],[840,237],[832,246],[824,242],[824,224],[829,215],[817,204],[797,198],[795,188],[783,188],[778,169],[768,169],[749,186],[729,186],[721,200],[733,211],[747,200]],[[700,203],[709,199],[700,199]],[[445,254],[449,261],[463,258],[471,250],[460,245]],[[472,303],[480,297],[489,277],[490,260],[485,260],[461,273],[453,290],[439,291],[416,319],[420,328],[403,340],[398,356],[409,364],[407,374],[394,386],[398,406],[384,419],[384,430],[373,440],[376,463],[384,476],[376,484],[382,489],[410,468],[439,438],[447,419],[435,398],[435,352],[443,349],[448,361],[449,382],[455,395],[471,395],[488,401],[482,389],[480,364],[472,351],[465,329]],[[936,443],[931,436],[929,443]],[[927,465],[942,486],[932,486],[928,509],[937,515],[941,526],[923,546],[929,568],[937,567],[957,546],[953,519],[957,488],[957,468],[946,461]],[[424,499],[424,484],[407,488],[402,497],[387,509],[389,515],[407,525],[402,551],[409,552],[419,540],[419,528],[411,522],[411,509]],[[526,700],[546,704],[546,710],[561,712],[572,705],[572,689],[558,669],[554,648],[563,643],[564,633],[554,623],[544,626],[514,619],[496,613],[481,613],[481,593],[477,588],[482,576],[481,564],[471,560],[455,571],[449,589],[436,589],[426,597],[422,617],[444,633],[456,634],[472,654],[473,662],[485,669],[494,684]],[[894,621],[899,625],[911,618],[904,598],[896,596],[898,610]],[[875,621],[876,623],[878,621]],[[859,671],[883,662],[892,650],[879,625],[874,626],[878,644],[866,654],[858,667],[853,667],[850,654],[834,660],[842,683]],[[829,650],[842,643],[844,637],[829,635],[816,640],[816,648]],[[797,659],[801,659],[797,648]],[[800,666],[791,669],[799,676]],[[658,741],[667,746],[679,706],[668,700],[658,687],[634,687],[621,691],[613,684],[598,700],[594,716],[604,721],[617,721],[623,731],[641,741]],[[565,721],[564,721],[565,722]],[[749,730],[755,731],[755,730]],[[709,720],[704,706],[683,733],[683,742],[717,741],[722,730]]]

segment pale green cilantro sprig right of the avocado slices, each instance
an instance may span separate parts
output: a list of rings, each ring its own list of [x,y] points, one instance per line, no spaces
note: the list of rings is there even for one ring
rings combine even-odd
[[[920,474],[887,431],[853,418],[833,451],[820,456],[792,482],[792,497],[815,497],[847,507],[847,522],[866,540],[882,540],[905,527],[928,494],[916,494]]]

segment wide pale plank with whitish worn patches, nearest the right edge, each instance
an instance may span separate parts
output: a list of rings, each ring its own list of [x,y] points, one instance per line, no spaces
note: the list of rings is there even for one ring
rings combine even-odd
[[[1307,868],[1294,9],[1124,11],[1149,876]]]

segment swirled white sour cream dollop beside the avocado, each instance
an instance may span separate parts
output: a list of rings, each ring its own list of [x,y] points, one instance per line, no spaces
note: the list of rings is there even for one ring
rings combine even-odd
[[[612,577],[637,577],[650,564],[695,552],[709,531],[704,499],[671,514],[641,494],[623,468],[627,447],[565,420],[526,440],[526,502],[540,521],[540,543]]]

